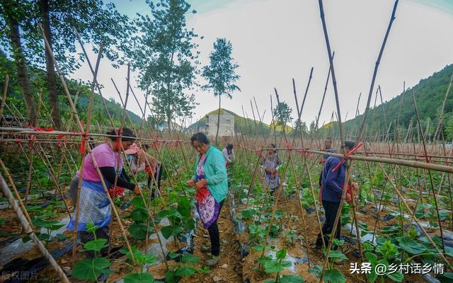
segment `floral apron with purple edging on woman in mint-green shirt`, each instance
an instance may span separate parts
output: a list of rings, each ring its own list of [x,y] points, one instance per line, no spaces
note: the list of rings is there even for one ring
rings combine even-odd
[[[206,159],[205,154],[200,156],[196,171],[197,181],[205,178]],[[220,204],[214,199],[207,187],[202,187],[200,190],[197,190],[197,192],[195,192],[195,197],[197,199],[198,215],[200,216],[205,229],[208,229],[219,217]]]

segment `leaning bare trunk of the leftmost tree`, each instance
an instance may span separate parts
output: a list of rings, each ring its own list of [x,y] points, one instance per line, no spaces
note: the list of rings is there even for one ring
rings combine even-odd
[[[33,100],[30,91],[30,79],[28,78],[25,57],[23,56],[19,25],[17,19],[11,14],[8,15],[7,21],[9,25],[9,39],[11,40],[11,47],[13,47],[13,57],[16,62],[19,84],[22,88],[23,100],[25,101],[25,108],[27,109],[27,120],[30,125],[35,125],[35,101]]]

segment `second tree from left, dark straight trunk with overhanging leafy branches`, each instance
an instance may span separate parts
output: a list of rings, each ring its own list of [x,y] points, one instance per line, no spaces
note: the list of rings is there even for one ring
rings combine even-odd
[[[80,67],[76,57],[67,56],[68,52],[76,52],[77,37],[74,28],[79,32],[82,42],[90,42],[93,51],[104,43],[106,56],[115,61],[118,54],[115,48],[121,44],[122,39],[129,34],[127,16],[122,16],[115,9],[114,4],[103,4],[101,0],[38,0],[38,14],[42,23],[45,37],[55,54],[62,70],[70,73]],[[42,40],[35,43],[41,44],[45,52],[45,68],[47,70],[47,91],[52,111],[52,120],[57,129],[62,127],[59,113],[57,79],[55,67],[50,57],[50,52],[45,49]],[[35,61],[42,63],[42,54],[38,53]],[[79,54],[83,60],[82,54]]]

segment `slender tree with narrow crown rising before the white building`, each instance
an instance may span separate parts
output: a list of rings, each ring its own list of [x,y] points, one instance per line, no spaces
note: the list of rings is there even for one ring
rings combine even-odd
[[[217,133],[215,134],[215,143],[219,137],[220,109],[222,95],[227,98],[233,98],[232,93],[241,89],[234,84],[240,76],[235,72],[238,64],[233,62],[231,51],[233,46],[225,38],[217,38],[214,42],[214,50],[210,53],[210,64],[203,67],[202,76],[207,80],[203,89],[212,90],[214,96],[219,96],[219,111],[217,112]]]

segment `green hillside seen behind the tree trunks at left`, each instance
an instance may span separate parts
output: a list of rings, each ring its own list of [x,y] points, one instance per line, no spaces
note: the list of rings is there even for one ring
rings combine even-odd
[[[7,96],[6,96],[6,102],[8,105],[13,105],[16,106],[19,112],[21,112],[22,115],[25,115],[25,103],[23,103],[23,96],[21,92],[21,88],[18,83],[18,78],[16,75],[15,71],[15,65],[13,62],[9,61],[6,59],[2,54],[0,54],[0,87],[3,89],[3,83],[4,83],[4,74],[8,72],[9,74],[9,83],[8,83],[8,91],[7,91]],[[42,88],[42,102],[45,105],[45,108],[41,110],[41,117],[43,120],[41,122],[46,121],[47,117],[49,116],[48,109],[49,103],[47,99],[47,83],[45,81],[45,71],[36,67],[28,67],[28,73],[30,76],[30,86],[31,86],[31,91],[33,95],[35,96],[35,103],[38,102],[38,92]],[[72,99],[74,100],[74,97],[76,93],[79,93],[79,99],[77,100],[76,108],[77,112],[79,113],[79,117],[81,120],[86,120],[86,114],[88,110],[88,103],[89,103],[89,97],[90,97],[90,86],[88,83],[84,83],[81,81],[76,81],[74,79],[66,79],[66,83],[69,89],[69,93],[71,93]],[[64,94],[64,90],[62,87],[62,83],[57,79],[57,90],[59,92],[59,106],[62,112],[62,117],[64,120],[69,119],[69,102],[67,100],[67,96]],[[103,93],[105,96],[106,93]],[[122,114],[122,106],[120,103],[115,102],[115,100],[105,100],[105,103],[107,105],[108,111],[110,112],[110,115],[112,116],[115,124],[120,125],[120,118]],[[134,114],[133,112],[127,110],[132,122],[134,124],[137,124],[141,121],[141,118]],[[14,115],[16,113],[11,113],[7,109],[5,109],[4,114],[9,114],[9,115]],[[103,104],[101,103],[101,96],[98,95],[98,93],[95,93],[94,95],[94,103],[93,103],[93,112],[92,112],[92,121],[97,121],[100,125],[108,125],[108,115],[104,110]],[[46,124],[48,123],[45,122]],[[43,126],[43,125],[42,125]],[[50,126],[50,125],[46,125]]]

